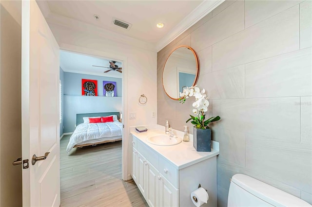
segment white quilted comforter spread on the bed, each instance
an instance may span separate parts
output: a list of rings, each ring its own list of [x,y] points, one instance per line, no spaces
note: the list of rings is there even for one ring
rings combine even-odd
[[[122,123],[119,121],[105,123],[80,123],[73,135],[70,137],[67,145],[67,153],[69,153],[76,144],[91,139],[104,137],[122,136]]]

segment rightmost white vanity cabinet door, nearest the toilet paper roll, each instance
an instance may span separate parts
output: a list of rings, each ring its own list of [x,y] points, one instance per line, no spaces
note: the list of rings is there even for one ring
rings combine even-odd
[[[159,207],[177,207],[178,191],[159,173]]]

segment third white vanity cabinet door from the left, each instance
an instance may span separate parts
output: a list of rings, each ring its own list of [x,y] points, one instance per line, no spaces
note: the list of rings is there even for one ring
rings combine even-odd
[[[158,171],[150,162],[145,163],[146,172],[146,201],[150,207],[158,207]]]

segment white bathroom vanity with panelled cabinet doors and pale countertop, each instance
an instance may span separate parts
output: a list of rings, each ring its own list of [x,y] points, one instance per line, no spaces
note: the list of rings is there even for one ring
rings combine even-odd
[[[217,206],[216,155],[218,143],[212,152],[196,152],[192,142],[174,146],[149,144],[146,138],[159,130],[132,133],[132,178],[150,207],[191,207],[191,192],[198,184],[208,190],[209,200],[203,207]]]

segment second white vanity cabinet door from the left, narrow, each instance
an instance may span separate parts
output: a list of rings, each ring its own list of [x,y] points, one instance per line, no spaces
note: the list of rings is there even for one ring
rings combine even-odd
[[[146,198],[145,163],[146,163],[146,159],[138,152],[137,153],[137,188],[141,191],[144,198]]]

